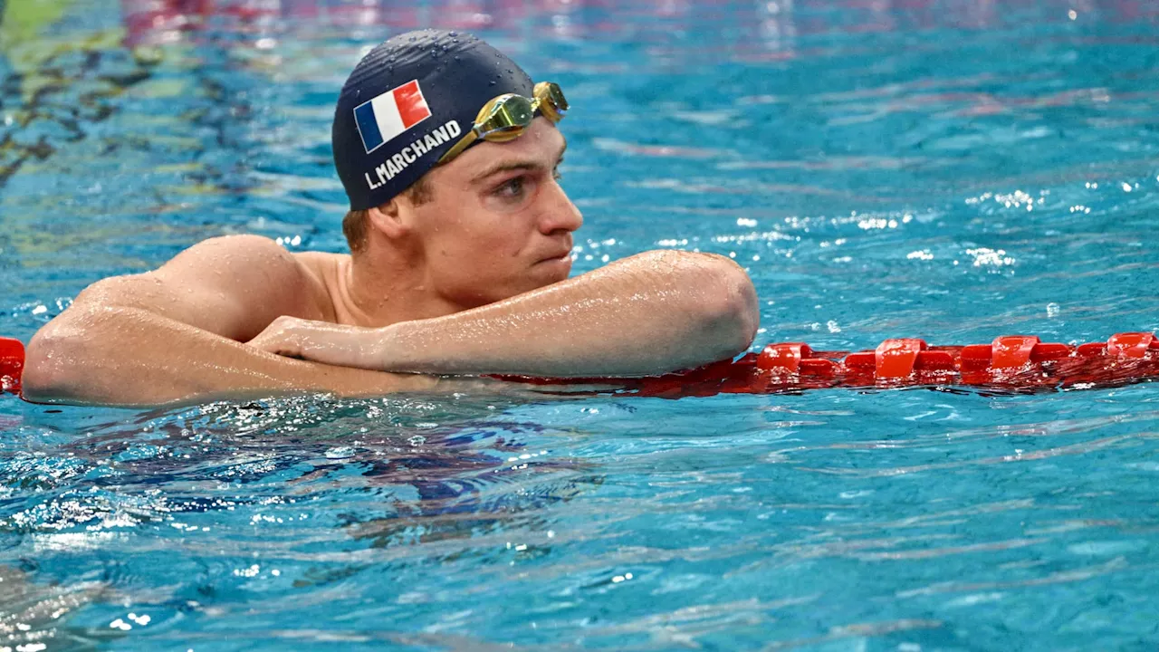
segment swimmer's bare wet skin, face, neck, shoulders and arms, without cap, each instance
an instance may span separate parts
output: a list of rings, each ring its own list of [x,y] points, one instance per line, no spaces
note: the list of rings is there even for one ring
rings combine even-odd
[[[462,386],[417,374],[647,375],[748,347],[756,292],[728,259],[646,252],[568,278],[583,219],[563,148],[544,118],[471,147],[429,173],[430,201],[370,209],[353,255],[232,236],[99,281],[29,343],[25,397],[377,396]]]

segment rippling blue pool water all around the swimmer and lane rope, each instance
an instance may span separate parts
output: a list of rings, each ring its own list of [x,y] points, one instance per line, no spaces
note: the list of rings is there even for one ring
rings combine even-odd
[[[165,5],[6,3],[0,333],[210,236],[342,251],[331,102],[428,24],[564,87],[577,271],[735,256],[755,347],[1159,329],[1147,0]],[[1152,384],[0,398],[0,650],[1153,650],[1157,432]]]

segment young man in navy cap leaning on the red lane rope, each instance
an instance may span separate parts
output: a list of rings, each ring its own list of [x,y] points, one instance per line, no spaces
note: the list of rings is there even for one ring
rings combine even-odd
[[[568,278],[562,90],[465,34],[374,48],[333,125],[350,255],[203,241],[81,292],[28,346],[35,401],[155,405],[455,386],[433,375],[640,376],[744,350],[732,261],[648,252]]]

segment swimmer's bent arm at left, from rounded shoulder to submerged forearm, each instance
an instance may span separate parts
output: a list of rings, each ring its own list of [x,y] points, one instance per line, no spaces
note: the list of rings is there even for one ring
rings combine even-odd
[[[293,256],[264,238],[207,240],[155,271],[108,278],[32,338],[24,397],[38,403],[188,404],[330,392],[385,394],[435,381],[290,360],[238,340],[302,304]]]

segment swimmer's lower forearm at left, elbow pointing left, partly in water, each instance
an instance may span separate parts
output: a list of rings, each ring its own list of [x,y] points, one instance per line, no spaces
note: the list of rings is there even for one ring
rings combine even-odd
[[[29,342],[27,399],[145,406],[305,392],[380,396],[436,383],[285,358],[144,310],[74,309]]]

